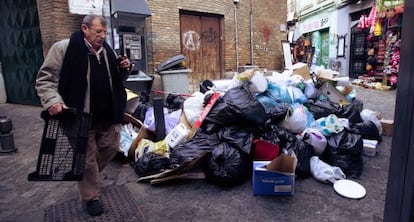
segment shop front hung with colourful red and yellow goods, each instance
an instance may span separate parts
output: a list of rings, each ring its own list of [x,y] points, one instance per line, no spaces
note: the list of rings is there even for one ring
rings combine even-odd
[[[404,14],[403,1],[377,1],[368,15],[361,15],[353,28],[355,35],[365,36],[365,61],[361,75],[365,82],[381,83],[385,88],[396,88],[399,65],[401,31]],[[354,42],[353,46],[357,46]],[[358,47],[353,47],[358,48]]]

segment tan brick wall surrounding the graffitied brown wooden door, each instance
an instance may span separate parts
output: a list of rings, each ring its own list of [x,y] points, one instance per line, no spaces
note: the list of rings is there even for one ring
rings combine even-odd
[[[224,69],[236,71],[235,13],[233,1],[182,0],[148,1],[152,16],[147,19],[149,71],[160,62],[180,53],[179,10],[212,13],[224,17]],[[270,70],[283,69],[281,40],[287,34],[280,32],[286,24],[287,3],[282,0],[241,0],[237,4],[237,33],[239,65],[253,63]],[[253,21],[253,41],[250,32],[250,11]]]

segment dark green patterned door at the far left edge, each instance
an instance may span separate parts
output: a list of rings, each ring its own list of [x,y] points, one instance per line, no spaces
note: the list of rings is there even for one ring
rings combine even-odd
[[[35,80],[43,62],[36,0],[0,1],[0,61],[7,102],[40,105]]]

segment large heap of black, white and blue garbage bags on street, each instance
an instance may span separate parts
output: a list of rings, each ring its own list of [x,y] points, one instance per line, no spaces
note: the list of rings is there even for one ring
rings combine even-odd
[[[249,178],[254,160],[295,152],[298,177],[312,176],[317,157],[340,169],[343,177],[359,178],[363,139],[381,141],[379,117],[356,97],[333,102],[317,81],[297,75],[275,80],[252,69],[235,74],[226,90],[209,80],[208,88],[189,97],[170,94],[163,107],[166,137],[156,141],[138,135],[125,153],[133,154],[140,177],[205,156],[190,170],[215,184],[234,186]],[[138,134],[149,135],[156,127],[154,109],[147,95],[140,98],[130,112],[143,123]]]

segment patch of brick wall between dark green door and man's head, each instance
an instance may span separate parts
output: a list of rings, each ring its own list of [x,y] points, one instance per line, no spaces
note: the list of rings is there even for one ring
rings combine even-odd
[[[82,15],[69,13],[68,0],[37,0],[43,54],[58,40],[69,38],[79,30]]]

